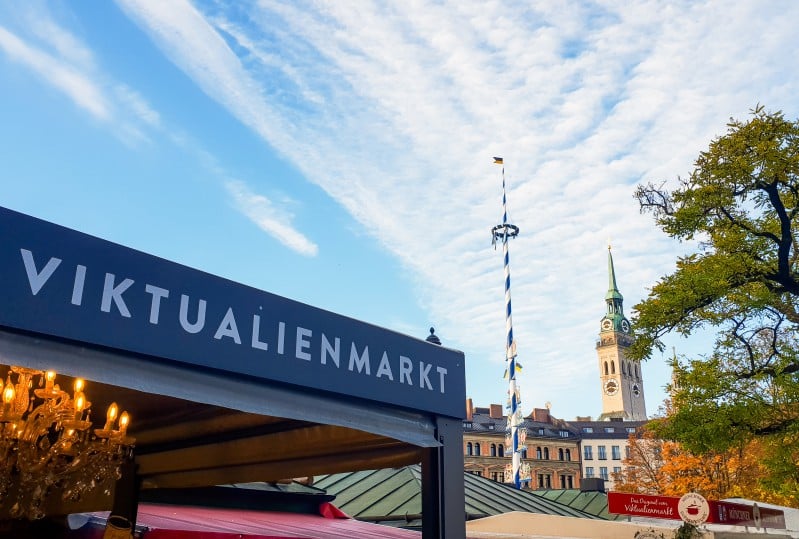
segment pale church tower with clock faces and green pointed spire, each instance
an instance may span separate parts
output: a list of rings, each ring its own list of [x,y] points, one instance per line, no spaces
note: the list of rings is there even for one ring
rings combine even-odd
[[[641,365],[628,360],[625,350],[632,344],[630,321],[624,316],[624,298],[616,286],[613,255],[608,245],[607,312],[600,321],[596,344],[599,359],[599,379],[602,383],[602,415],[600,420],[646,420],[644,381]]]

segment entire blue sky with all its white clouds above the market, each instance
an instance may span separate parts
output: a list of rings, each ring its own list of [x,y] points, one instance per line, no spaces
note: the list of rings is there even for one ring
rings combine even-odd
[[[690,243],[639,212],[762,104],[799,116],[792,0],[0,1],[0,205],[466,355],[504,403],[504,159],[522,411],[601,409]],[[647,410],[669,337],[643,367]],[[664,357],[664,355],[666,357]]]

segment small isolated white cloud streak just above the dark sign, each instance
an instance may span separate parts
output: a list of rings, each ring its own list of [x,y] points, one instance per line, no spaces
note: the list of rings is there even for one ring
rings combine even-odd
[[[225,188],[236,209],[280,243],[304,256],[316,256],[319,252],[315,243],[292,226],[293,216],[277,208],[271,200],[252,192],[241,181],[228,181]]]

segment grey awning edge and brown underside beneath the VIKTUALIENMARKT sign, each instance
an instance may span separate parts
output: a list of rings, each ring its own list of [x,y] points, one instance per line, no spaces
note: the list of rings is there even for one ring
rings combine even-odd
[[[98,421],[119,403],[132,417],[144,489],[404,466],[440,445],[422,414],[4,330],[2,365],[54,369],[63,387],[85,378]],[[101,510],[110,500],[98,494],[48,511]]]

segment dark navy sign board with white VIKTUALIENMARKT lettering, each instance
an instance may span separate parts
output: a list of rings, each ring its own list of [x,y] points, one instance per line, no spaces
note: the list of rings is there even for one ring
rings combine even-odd
[[[0,208],[0,326],[461,418],[462,352]]]

